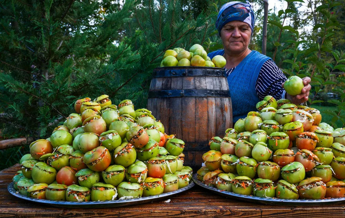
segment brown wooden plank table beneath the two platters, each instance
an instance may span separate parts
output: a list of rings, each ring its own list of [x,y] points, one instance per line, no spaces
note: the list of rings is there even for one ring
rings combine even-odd
[[[48,207],[12,196],[7,186],[20,169],[16,164],[0,171],[0,217],[345,217],[345,203],[334,206],[272,206],[223,198],[197,185],[171,197],[137,206],[102,209]]]

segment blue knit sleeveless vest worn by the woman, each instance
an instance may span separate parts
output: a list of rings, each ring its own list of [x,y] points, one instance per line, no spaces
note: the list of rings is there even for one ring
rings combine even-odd
[[[211,59],[216,55],[224,55],[224,50],[208,53]],[[262,65],[269,59],[271,58],[258,51],[252,51],[227,77],[234,122],[246,117],[249,111],[257,111],[256,103],[260,99],[257,96],[255,84]]]

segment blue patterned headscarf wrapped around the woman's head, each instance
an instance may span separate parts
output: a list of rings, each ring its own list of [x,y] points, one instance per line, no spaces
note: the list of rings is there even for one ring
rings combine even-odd
[[[233,20],[239,20],[247,23],[252,29],[253,35],[253,28],[254,28],[254,12],[253,8],[250,5],[249,1],[247,3],[243,3],[240,1],[231,1],[224,4],[218,13],[217,21],[216,21],[216,28],[220,35],[220,30],[223,26]]]

